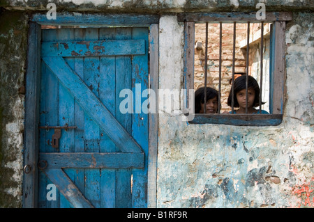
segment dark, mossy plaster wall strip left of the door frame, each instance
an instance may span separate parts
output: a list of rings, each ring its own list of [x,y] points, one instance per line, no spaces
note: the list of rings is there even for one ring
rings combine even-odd
[[[22,207],[27,19],[0,10],[0,207]]]

